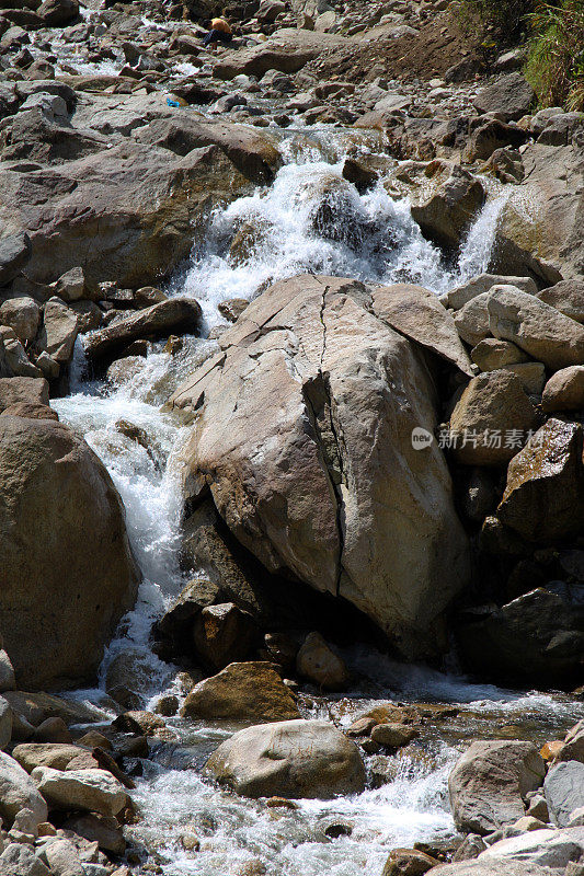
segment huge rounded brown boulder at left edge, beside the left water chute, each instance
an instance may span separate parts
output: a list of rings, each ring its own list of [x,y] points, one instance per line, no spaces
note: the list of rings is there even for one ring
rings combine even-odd
[[[91,678],[138,574],[112,480],[64,424],[0,417],[0,626],[20,685]]]

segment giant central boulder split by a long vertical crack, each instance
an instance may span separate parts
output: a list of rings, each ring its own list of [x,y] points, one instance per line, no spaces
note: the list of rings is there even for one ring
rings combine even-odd
[[[459,342],[446,311],[442,331],[424,337],[424,290],[406,287],[409,307],[396,308],[404,288],[311,275],[278,283],[168,406],[195,416],[182,453],[186,497],[210,491],[270,572],[347,600],[415,658],[442,645],[468,542],[431,435],[431,369],[436,354],[455,367]],[[423,449],[412,446],[416,428],[428,433]]]

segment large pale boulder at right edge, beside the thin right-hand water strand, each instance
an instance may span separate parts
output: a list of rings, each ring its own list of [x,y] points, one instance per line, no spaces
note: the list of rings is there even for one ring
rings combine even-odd
[[[582,149],[535,143],[522,158],[525,180],[501,211],[491,266],[548,286],[576,278],[584,274]]]

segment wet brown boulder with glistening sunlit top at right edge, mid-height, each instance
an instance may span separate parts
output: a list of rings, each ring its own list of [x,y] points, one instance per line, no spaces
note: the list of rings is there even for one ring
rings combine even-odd
[[[584,526],[582,426],[549,419],[511,461],[497,509],[529,541],[553,541]]]

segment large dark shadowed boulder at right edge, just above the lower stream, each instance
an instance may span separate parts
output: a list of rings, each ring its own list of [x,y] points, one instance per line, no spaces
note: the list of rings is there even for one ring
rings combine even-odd
[[[538,588],[501,608],[466,612],[456,635],[472,671],[506,683],[537,678],[540,685],[562,688],[582,671],[584,612],[565,587]]]

